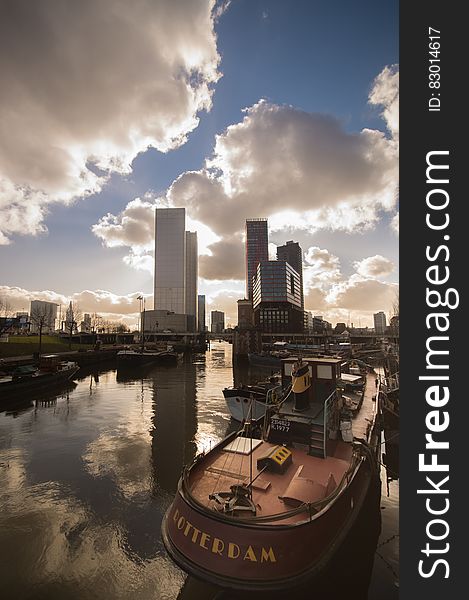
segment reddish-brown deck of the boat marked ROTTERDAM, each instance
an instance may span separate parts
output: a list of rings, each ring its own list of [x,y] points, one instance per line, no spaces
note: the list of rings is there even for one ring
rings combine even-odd
[[[367,375],[362,406],[352,422],[356,438],[368,439],[376,412],[374,393],[375,376],[370,374]],[[236,439],[240,440],[237,442],[240,451],[228,451],[225,445],[208,453],[190,471],[190,494],[207,508],[216,510],[220,507],[215,500],[209,499],[211,494],[229,492],[230,486],[247,484],[259,475],[261,469],[257,469],[257,460],[276,446],[267,441],[252,440],[251,452],[251,440]],[[284,513],[302,502],[317,502],[327,497],[348,470],[353,452],[352,444],[342,440],[328,440],[327,458],[309,455],[308,446],[303,444],[294,443],[289,450],[292,464],[284,473],[264,471],[253,483],[252,500],[258,517]],[[277,523],[285,525],[303,519],[304,513]]]

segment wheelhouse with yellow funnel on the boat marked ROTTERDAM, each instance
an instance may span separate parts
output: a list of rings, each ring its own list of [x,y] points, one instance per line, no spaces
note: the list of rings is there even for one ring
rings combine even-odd
[[[304,446],[310,455],[328,456],[340,429],[340,363],[329,357],[282,361],[282,385],[291,383],[291,391],[268,419],[269,442]]]

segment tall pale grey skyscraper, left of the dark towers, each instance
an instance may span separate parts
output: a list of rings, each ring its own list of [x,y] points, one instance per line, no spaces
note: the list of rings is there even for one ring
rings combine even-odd
[[[188,329],[197,318],[197,233],[185,231],[184,208],[155,210],[155,310],[186,314]]]

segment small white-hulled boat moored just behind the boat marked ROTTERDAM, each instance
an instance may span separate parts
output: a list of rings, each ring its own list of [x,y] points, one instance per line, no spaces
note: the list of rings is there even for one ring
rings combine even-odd
[[[232,418],[243,422],[247,418],[263,418],[267,406],[283,396],[283,388],[278,377],[272,376],[255,385],[226,387],[223,389],[223,396]]]

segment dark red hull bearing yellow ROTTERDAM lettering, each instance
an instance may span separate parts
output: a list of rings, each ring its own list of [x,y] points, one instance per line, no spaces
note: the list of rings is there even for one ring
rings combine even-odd
[[[241,590],[300,585],[327,568],[352,528],[372,482],[376,461],[363,457],[349,483],[319,513],[295,524],[240,522],[194,503],[179,482],[162,524],[164,545],[185,571]],[[280,521],[279,521],[280,523]]]

